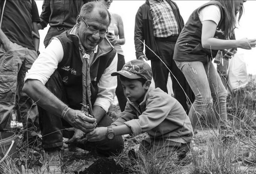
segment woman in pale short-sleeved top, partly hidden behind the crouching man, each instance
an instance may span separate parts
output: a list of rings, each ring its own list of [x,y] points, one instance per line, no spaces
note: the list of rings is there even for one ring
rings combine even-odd
[[[104,4],[107,9],[109,9],[113,0],[98,0],[98,2]],[[114,46],[117,50],[118,62],[117,62],[117,71],[120,71],[125,64],[124,52],[121,48],[121,45],[124,45],[124,24],[121,16],[111,13],[111,23],[108,27],[108,41]],[[117,77],[117,88],[115,90],[115,95],[117,96],[119,107],[121,112],[124,111],[126,106],[127,99],[124,96],[123,88],[119,77]]]

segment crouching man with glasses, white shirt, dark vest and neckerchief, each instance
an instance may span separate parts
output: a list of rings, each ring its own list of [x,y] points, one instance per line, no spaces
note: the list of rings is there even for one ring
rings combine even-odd
[[[117,68],[117,55],[106,39],[110,21],[102,4],[83,5],[76,25],[54,37],[26,74],[23,90],[39,105],[43,148],[48,154],[41,168],[45,173],[61,174],[63,137],[70,138],[67,144],[95,148],[102,155],[121,152],[121,136],[95,143],[84,138],[96,122],[104,127],[113,122],[106,114],[117,86],[116,77],[111,76]]]

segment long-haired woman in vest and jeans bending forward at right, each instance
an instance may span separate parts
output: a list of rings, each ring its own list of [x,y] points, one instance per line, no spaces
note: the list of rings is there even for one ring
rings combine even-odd
[[[175,46],[174,60],[185,75],[195,94],[189,111],[193,129],[206,108],[214,104],[215,116],[220,117],[221,130],[227,122],[226,89],[213,66],[218,50],[255,47],[256,39],[229,40],[243,14],[245,0],[212,0],[189,17]],[[212,101],[211,101],[212,97]]]

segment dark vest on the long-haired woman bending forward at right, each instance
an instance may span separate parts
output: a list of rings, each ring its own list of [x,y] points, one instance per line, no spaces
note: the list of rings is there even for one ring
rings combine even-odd
[[[226,39],[223,6],[217,1],[210,1],[203,6],[200,6],[190,15],[178,37],[174,50],[174,60],[187,62],[200,61],[207,63],[215,58],[218,50],[203,48],[201,41],[202,22],[199,19],[198,11],[208,5],[216,5],[221,11],[221,20],[216,28],[214,37],[217,39]]]

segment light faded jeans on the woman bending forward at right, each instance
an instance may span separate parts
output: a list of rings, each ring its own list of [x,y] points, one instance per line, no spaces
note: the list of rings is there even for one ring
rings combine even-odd
[[[195,130],[200,117],[206,116],[206,110],[212,106],[212,103],[215,116],[221,118],[221,128],[223,128],[223,124],[227,121],[227,91],[213,63],[176,61],[176,64],[195,94],[195,101],[189,111],[193,129]]]

